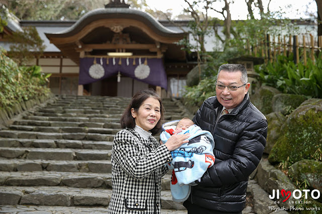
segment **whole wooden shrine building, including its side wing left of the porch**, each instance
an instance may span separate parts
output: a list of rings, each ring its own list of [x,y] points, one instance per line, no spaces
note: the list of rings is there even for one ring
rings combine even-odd
[[[76,22],[10,22],[6,30],[10,34],[24,26],[36,27],[45,41],[44,54],[29,64],[52,73],[48,86],[56,94],[131,97],[139,89],[154,88],[162,97],[180,96],[196,65],[176,44],[187,33],[120,0]]]

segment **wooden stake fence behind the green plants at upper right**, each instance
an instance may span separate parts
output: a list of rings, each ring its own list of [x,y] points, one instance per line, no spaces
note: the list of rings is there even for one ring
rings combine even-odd
[[[252,46],[247,41],[246,50],[251,56],[264,58],[265,63],[273,62],[278,55],[288,56],[293,53],[294,63],[302,59],[306,65],[307,58],[310,58],[314,63],[314,55],[318,55],[322,51],[322,36],[316,39],[311,34],[302,36],[271,36],[267,34],[265,39],[256,45]]]

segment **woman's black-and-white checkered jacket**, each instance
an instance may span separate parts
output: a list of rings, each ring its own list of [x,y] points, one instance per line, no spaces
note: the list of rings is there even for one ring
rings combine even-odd
[[[133,129],[119,131],[112,149],[113,194],[108,213],[160,213],[161,177],[172,160],[165,145]]]

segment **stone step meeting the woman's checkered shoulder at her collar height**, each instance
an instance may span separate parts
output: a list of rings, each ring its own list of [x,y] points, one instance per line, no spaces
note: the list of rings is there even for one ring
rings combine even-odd
[[[113,141],[113,134],[99,133],[49,133],[49,132],[28,132],[16,130],[0,130],[0,137],[3,138],[27,138],[27,139],[65,139],[65,140],[88,140],[88,141]]]

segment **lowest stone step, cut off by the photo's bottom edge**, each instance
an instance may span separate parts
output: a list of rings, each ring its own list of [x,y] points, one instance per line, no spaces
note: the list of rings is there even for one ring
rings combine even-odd
[[[41,214],[103,214],[108,208],[102,206],[81,207],[81,206],[35,206],[35,205],[0,205],[1,212],[5,213],[41,213]],[[187,214],[187,210],[162,209],[161,214]]]

